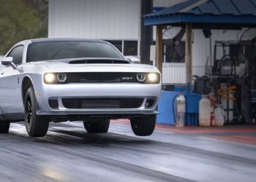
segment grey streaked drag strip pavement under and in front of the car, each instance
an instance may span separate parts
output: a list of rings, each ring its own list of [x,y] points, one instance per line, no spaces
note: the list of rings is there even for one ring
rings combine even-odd
[[[252,143],[178,130],[138,137],[120,120],[89,134],[82,122],[64,122],[30,138],[14,123],[0,135],[0,181],[255,181]]]

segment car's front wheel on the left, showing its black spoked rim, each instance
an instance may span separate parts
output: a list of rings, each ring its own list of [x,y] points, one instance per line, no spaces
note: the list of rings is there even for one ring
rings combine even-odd
[[[49,121],[45,116],[37,116],[37,100],[33,87],[26,91],[24,99],[26,132],[31,137],[43,137],[48,132]]]

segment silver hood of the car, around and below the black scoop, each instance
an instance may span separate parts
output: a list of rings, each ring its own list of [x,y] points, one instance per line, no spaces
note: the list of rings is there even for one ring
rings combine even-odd
[[[30,62],[31,65],[46,66],[50,72],[148,72],[157,71],[157,68],[143,64],[127,63],[76,63],[71,64],[68,61],[37,61]]]

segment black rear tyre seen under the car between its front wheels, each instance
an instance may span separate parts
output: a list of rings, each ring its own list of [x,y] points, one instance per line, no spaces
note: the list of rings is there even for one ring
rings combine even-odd
[[[87,132],[108,132],[110,119],[100,119],[93,122],[83,122]]]

